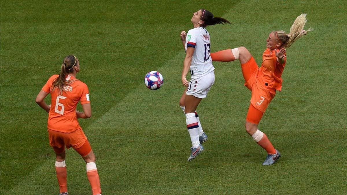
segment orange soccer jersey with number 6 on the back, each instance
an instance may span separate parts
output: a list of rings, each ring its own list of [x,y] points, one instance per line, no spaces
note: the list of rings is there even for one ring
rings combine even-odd
[[[58,76],[51,76],[42,87],[42,91],[51,93],[52,105],[48,115],[47,128],[62,133],[71,133],[82,129],[77,120],[76,107],[79,101],[81,104],[90,103],[89,91],[85,83],[68,75],[66,80],[75,79],[75,82],[64,86],[65,91],[59,94],[58,88],[52,89],[52,83]]]

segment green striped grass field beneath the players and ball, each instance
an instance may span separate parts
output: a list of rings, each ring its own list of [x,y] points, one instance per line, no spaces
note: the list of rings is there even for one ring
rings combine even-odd
[[[90,90],[93,116],[79,122],[103,194],[347,192],[346,1],[4,0],[0,7],[0,194],[59,193],[48,115],[35,97],[69,54]],[[288,32],[303,12],[306,29],[314,28],[287,49],[282,92],[259,125],[282,154],[273,166],[261,165],[266,152],[244,130],[251,93],[239,62],[213,63],[215,84],[197,109],[209,141],[186,161],[179,33],[193,28],[201,8],[232,22],[208,27],[211,52],[245,46],[259,65],[271,31]],[[151,70],[164,76],[160,90],[143,84]],[[69,194],[91,194],[82,158],[70,149],[66,163]]]

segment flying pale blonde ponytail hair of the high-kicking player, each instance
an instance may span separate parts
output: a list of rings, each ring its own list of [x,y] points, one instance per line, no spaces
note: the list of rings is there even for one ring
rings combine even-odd
[[[293,25],[291,25],[289,34],[286,34],[285,31],[274,31],[278,42],[289,48],[296,40],[306,35],[308,31],[313,30],[312,28],[308,28],[307,31],[304,30],[306,22],[306,14],[301,14],[295,19]]]

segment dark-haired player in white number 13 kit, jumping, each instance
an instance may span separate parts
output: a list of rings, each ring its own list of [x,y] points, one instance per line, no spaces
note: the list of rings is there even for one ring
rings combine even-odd
[[[192,153],[188,161],[193,160],[200,154],[204,147],[201,145],[207,140],[207,135],[203,132],[196,108],[202,98],[206,97],[214,83],[214,67],[210,57],[210,34],[206,26],[223,24],[230,22],[224,18],[214,17],[205,9],[194,12],[191,19],[194,28],[188,33],[181,32],[181,41],[186,51],[182,71],[182,83],[187,87],[179,101],[181,109],[185,112],[186,123],[192,141]],[[191,71],[191,80],[187,81],[188,70]]]

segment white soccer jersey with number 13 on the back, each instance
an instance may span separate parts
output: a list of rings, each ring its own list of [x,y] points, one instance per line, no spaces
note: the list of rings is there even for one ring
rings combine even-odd
[[[196,27],[188,31],[186,51],[188,47],[195,48],[190,68],[192,75],[204,76],[214,70],[210,57],[210,45],[210,34],[206,28]]]

